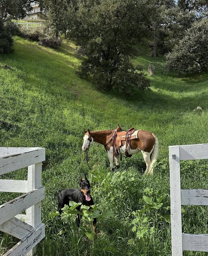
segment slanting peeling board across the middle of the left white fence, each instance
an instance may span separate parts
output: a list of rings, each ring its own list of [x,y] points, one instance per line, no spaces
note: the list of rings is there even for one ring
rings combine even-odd
[[[4,205],[0,205],[0,224],[16,216],[32,205],[40,202],[45,197],[45,187],[39,187],[20,197],[17,197]]]

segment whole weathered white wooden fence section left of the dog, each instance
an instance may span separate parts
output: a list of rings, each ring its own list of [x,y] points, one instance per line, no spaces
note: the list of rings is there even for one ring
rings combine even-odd
[[[25,193],[0,205],[0,231],[21,240],[4,256],[33,255],[34,246],[45,236],[45,225],[41,223],[44,160],[44,148],[0,148],[0,175],[28,166],[27,180],[0,179],[1,192]],[[20,214],[25,210],[26,215]]]

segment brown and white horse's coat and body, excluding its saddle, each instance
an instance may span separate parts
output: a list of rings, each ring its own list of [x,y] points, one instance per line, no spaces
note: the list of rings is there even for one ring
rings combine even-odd
[[[90,130],[85,131],[84,133],[84,143],[82,145],[82,150],[88,150],[89,146],[94,143],[100,143],[105,146],[106,151],[108,152],[108,158],[110,161],[111,170],[114,171],[114,159],[116,161],[116,166],[119,168],[119,155],[113,153],[113,134],[115,130],[106,130],[106,131],[96,131],[91,132]],[[120,146],[120,154],[125,154],[126,146],[125,141],[122,142]],[[157,161],[159,154],[159,144],[157,137],[152,132],[147,132],[139,130],[138,139],[132,139],[130,141],[130,148],[128,154],[132,155],[141,151],[146,162],[146,171],[145,173],[153,173],[153,164]],[[152,156],[151,156],[152,154]],[[151,156],[151,158],[150,158]],[[113,159],[114,158],[114,159]]]

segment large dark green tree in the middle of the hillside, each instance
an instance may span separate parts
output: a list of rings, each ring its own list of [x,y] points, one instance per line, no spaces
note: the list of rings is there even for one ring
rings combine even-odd
[[[152,11],[146,0],[80,0],[71,7],[69,36],[87,56],[80,76],[92,77],[104,90],[131,93],[134,88],[149,87],[150,82],[132,66],[129,57],[137,54],[133,44],[144,33]]]

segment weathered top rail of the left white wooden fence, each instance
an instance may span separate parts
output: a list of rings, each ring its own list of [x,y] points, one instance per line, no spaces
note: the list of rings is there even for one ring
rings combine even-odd
[[[9,152],[9,148],[7,148]],[[45,149],[37,148],[23,153],[11,153],[0,157],[0,175],[33,165],[45,160]]]

